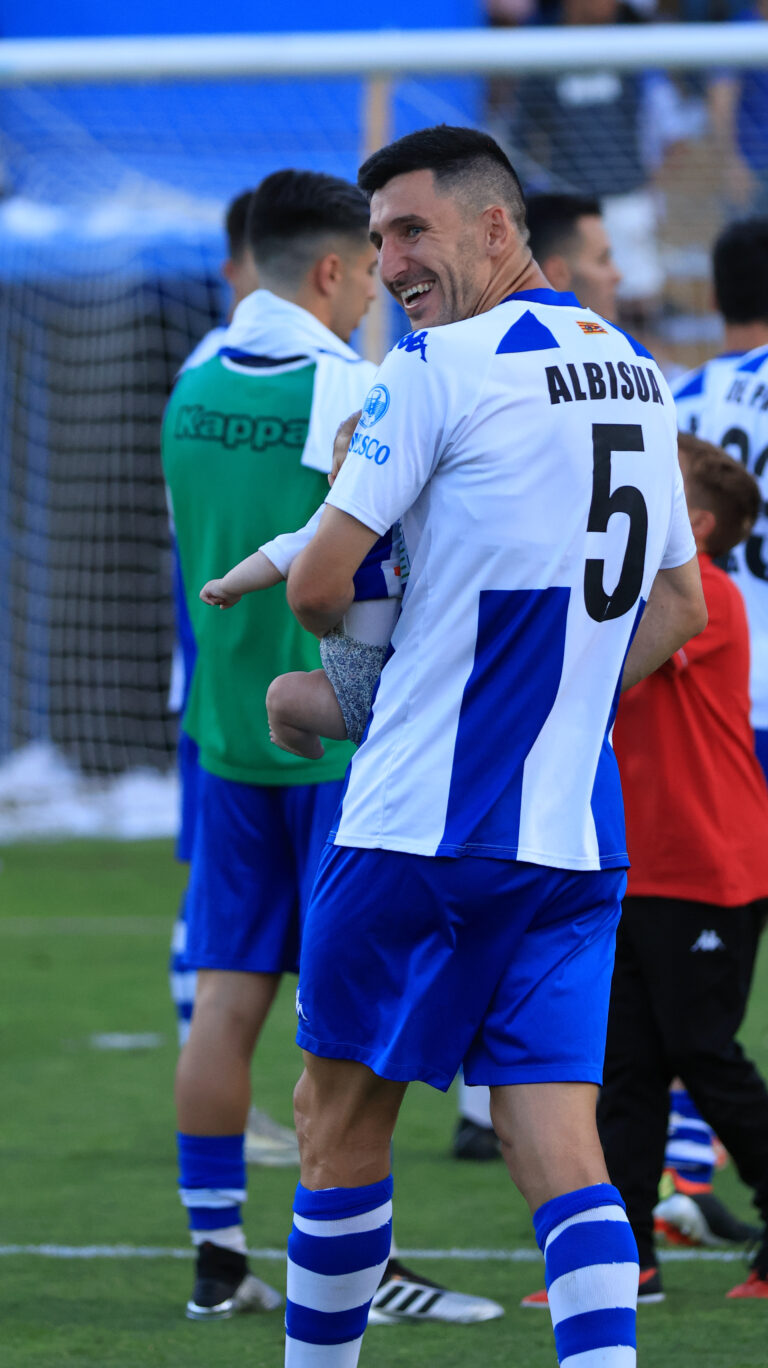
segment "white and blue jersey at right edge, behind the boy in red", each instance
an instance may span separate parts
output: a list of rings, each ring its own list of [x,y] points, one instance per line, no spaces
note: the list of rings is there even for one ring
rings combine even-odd
[[[702,378],[700,383],[698,378]],[[752,535],[734,547],[728,572],[749,620],[752,725],[768,728],[768,347],[715,357],[674,389],[680,428],[742,461],[763,502]]]

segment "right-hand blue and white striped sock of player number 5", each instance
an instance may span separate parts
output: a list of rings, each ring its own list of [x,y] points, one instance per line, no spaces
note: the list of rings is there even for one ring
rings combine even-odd
[[[561,1368],[634,1368],[638,1248],[616,1187],[553,1197],[534,1215]]]

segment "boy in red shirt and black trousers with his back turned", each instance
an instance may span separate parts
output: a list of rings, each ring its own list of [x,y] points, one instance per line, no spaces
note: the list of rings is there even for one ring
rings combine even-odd
[[[675,1077],[753,1187],[768,1227],[768,1092],[735,1040],[768,910],[768,791],[749,721],[745,606],[712,561],[749,536],[760,492],[741,464],[689,434],[680,464],[709,624],[619,707],[632,865],[598,1105],[645,1301],[663,1298],[653,1208]],[[728,1295],[768,1297],[765,1230],[746,1283]]]

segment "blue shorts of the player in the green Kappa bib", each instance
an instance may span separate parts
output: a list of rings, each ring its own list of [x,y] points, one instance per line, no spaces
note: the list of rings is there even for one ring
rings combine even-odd
[[[301,922],[342,781],[259,787],[199,769],[189,969],[296,973]]]

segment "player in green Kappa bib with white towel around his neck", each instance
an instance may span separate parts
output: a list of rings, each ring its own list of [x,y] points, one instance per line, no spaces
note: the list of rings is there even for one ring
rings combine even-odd
[[[233,213],[231,260],[252,254],[261,289],[251,276],[215,354],[199,353],[179,376],[163,424],[196,648],[182,726],[200,748],[185,948],[185,969],[200,973],[177,1078],[182,1201],[199,1249],[188,1315],[199,1319],[281,1301],[252,1278],[244,1253],[249,1067],[279,974],[296,969],[298,921],[349,747],[303,765],[268,743],[274,674],[319,663],[282,591],[238,622],[203,609],[197,594],[233,557],[315,510],[335,428],[360,406],[374,369],[348,346],[375,289],[357,187],[277,172]]]

